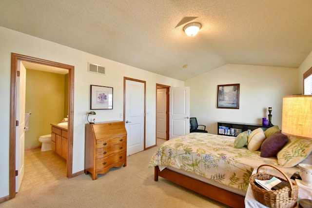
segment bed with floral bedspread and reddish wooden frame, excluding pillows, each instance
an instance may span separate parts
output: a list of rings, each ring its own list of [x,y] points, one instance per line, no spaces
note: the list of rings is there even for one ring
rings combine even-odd
[[[276,157],[262,158],[260,151],[234,148],[235,137],[190,133],[166,141],[157,148],[149,167],[183,187],[231,207],[244,207],[249,178],[257,166],[278,166]],[[297,167],[280,167],[292,174]]]

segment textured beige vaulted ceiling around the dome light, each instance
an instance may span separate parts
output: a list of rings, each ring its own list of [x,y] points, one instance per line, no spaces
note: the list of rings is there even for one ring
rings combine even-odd
[[[0,0],[0,26],[185,81],[227,63],[298,67],[312,0]]]

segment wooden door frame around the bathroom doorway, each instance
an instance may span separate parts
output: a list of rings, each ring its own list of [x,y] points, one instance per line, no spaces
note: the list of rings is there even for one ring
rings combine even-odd
[[[74,124],[74,69],[72,65],[51,62],[30,56],[11,53],[11,90],[10,90],[10,146],[9,146],[9,198],[16,195],[16,107],[17,107],[17,71],[18,61],[33,62],[42,65],[67,69],[69,72],[68,92],[68,151],[67,151],[67,177],[73,177],[73,124]],[[8,200],[4,199],[4,200]]]

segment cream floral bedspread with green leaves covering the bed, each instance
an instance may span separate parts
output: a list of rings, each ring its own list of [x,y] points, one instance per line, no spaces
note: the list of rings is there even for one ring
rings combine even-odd
[[[254,168],[277,165],[277,160],[261,158],[259,151],[234,148],[234,139],[209,133],[179,136],[158,147],[149,167],[171,166],[247,191]]]

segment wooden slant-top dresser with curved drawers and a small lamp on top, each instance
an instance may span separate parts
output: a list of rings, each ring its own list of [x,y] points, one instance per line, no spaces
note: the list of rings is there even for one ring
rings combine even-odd
[[[106,173],[112,167],[127,165],[127,131],[121,121],[86,124],[84,173]]]

